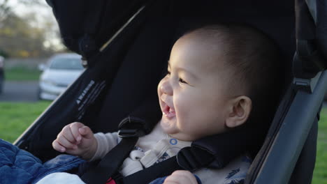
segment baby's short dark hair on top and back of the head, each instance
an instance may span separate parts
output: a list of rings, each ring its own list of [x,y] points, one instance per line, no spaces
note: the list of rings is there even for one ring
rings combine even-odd
[[[251,123],[245,125],[259,123],[268,128],[284,84],[282,55],[275,41],[259,29],[236,23],[203,26],[187,35],[197,36],[212,47],[223,45],[216,51],[223,59],[217,60],[223,60],[231,70],[229,90],[252,99]]]

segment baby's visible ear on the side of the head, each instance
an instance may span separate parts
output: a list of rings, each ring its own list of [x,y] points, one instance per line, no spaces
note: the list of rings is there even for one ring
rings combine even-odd
[[[252,109],[252,100],[245,96],[238,96],[231,100],[229,114],[226,118],[226,126],[228,128],[235,128],[242,125],[249,118]]]

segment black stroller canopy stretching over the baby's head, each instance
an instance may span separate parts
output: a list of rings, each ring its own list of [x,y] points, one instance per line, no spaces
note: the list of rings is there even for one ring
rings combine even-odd
[[[264,29],[275,38],[286,53],[295,49],[294,5],[293,1],[51,1],[61,37],[65,45],[87,59],[99,49],[145,4],[158,3],[161,12],[166,11],[170,24],[178,22],[178,17],[189,17],[184,29],[194,25],[197,19],[247,22]],[[166,9],[165,9],[166,8]],[[163,16],[156,13],[157,16]],[[156,16],[152,15],[152,16]],[[286,18],[286,20],[285,20]],[[176,20],[177,19],[177,20]],[[203,21],[202,20],[202,21]],[[181,26],[179,26],[181,27]],[[169,28],[166,28],[169,29]],[[184,30],[185,31],[185,30]],[[292,31],[292,32],[290,32]],[[287,37],[286,37],[287,36]],[[294,38],[290,38],[294,36]],[[293,40],[293,43],[291,42]]]

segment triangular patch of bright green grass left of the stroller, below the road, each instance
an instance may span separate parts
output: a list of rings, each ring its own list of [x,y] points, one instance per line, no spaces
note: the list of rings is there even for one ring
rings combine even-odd
[[[0,139],[13,142],[50,105],[50,101],[0,102]]]

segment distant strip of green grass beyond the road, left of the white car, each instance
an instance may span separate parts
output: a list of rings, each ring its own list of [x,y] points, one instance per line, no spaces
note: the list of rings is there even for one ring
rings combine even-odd
[[[17,66],[15,68],[6,68],[5,76],[8,81],[34,81],[38,80],[41,72],[36,68]]]

